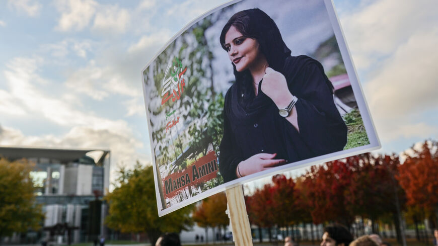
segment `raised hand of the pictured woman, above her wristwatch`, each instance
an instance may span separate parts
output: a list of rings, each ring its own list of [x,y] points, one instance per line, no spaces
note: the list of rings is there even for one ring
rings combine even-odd
[[[279,109],[287,107],[292,101],[293,96],[287,88],[286,78],[283,74],[270,67],[266,67],[265,72],[261,88],[262,92],[272,99]]]

